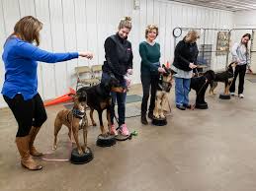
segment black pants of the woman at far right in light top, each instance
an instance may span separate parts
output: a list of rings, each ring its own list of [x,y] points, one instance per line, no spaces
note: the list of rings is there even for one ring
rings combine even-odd
[[[246,64],[245,65],[237,65],[234,70],[234,79],[232,85],[230,86],[230,93],[235,92],[235,81],[237,76],[239,75],[239,85],[238,85],[238,95],[243,94],[243,85],[244,85],[244,76],[246,72]]]

